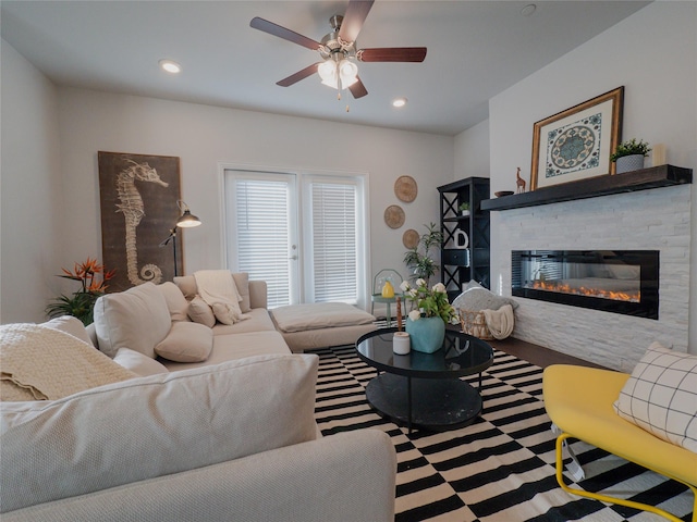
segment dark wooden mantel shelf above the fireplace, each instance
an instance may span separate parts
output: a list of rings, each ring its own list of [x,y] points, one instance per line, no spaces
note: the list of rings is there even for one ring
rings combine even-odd
[[[530,192],[513,194],[481,201],[481,210],[509,210],[539,204],[559,203],[576,199],[596,198],[611,194],[633,192],[649,188],[670,187],[693,183],[693,170],[682,166],[660,165],[622,174],[591,177]]]

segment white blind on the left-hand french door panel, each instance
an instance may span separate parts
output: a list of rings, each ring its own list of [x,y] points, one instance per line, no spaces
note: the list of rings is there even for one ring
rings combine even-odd
[[[290,303],[289,184],[236,179],[237,268],[267,283],[269,308]]]

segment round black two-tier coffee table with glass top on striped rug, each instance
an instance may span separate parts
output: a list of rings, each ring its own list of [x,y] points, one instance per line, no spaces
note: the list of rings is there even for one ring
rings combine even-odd
[[[356,341],[356,352],[380,373],[366,387],[370,406],[398,424],[430,431],[453,430],[474,422],[481,396],[464,375],[479,374],[493,362],[491,346],[454,330],[445,331],[440,350],[406,356],[392,351],[396,328],[370,332]]]

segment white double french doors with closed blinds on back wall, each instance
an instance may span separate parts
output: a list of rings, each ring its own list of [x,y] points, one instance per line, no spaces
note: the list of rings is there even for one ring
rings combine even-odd
[[[269,308],[365,308],[363,176],[224,170],[228,268],[268,285]]]

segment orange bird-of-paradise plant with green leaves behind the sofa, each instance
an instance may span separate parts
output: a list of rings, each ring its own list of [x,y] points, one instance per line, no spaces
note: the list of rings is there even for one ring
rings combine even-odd
[[[75,263],[73,271],[61,269],[63,274],[59,277],[80,281],[81,288],[70,296],[61,295],[46,307],[49,318],[60,315],[73,315],[83,324],[88,325],[94,321],[95,302],[107,290],[107,282],[114,275],[113,270],[107,271],[97,259],[87,258],[84,263]],[[101,274],[101,278],[99,278]]]

